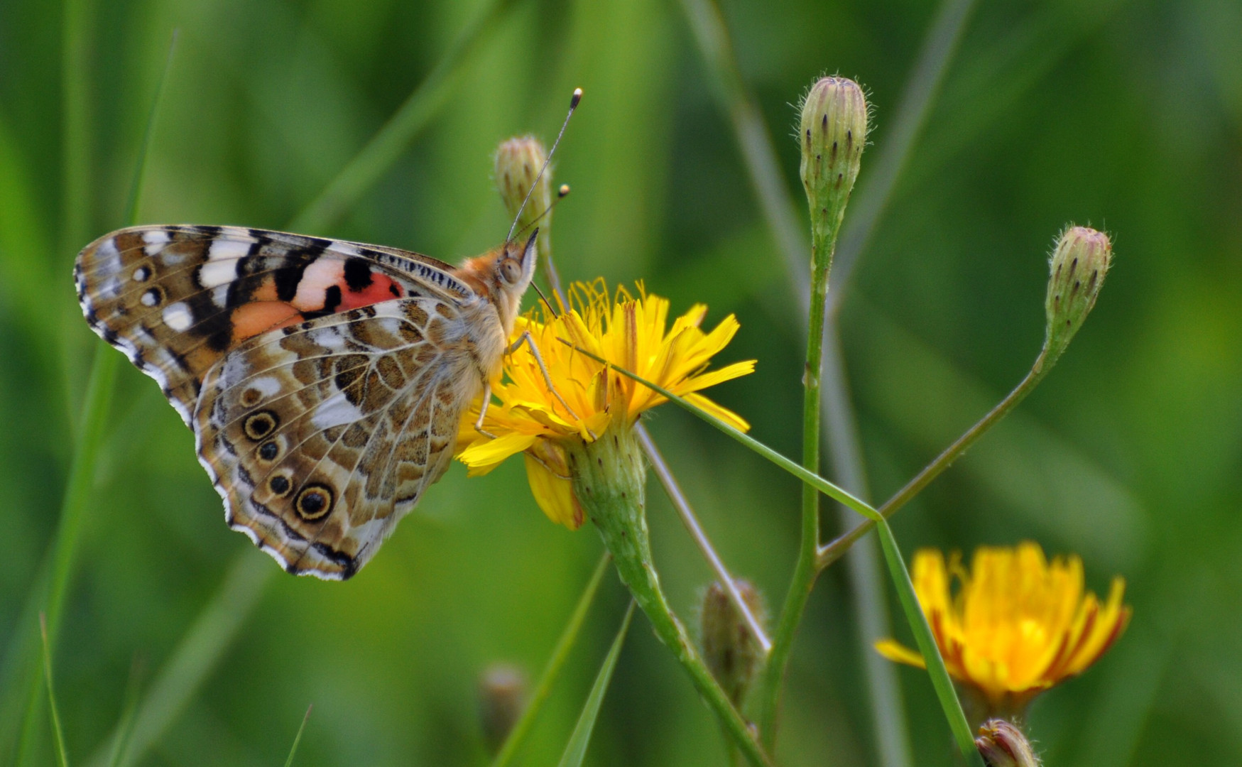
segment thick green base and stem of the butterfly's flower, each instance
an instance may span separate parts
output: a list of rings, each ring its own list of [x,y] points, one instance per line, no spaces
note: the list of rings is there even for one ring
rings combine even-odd
[[[643,502],[646,467],[631,426],[616,425],[591,444],[569,443],[566,448],[574,475],[574,496],[600,531],[621,582],[647,615],[656,636],[689,674],[694,687],[715,712],[746,762],[753,767],[771,765],[746,721],[712,676],[660,586],[651,557]]]

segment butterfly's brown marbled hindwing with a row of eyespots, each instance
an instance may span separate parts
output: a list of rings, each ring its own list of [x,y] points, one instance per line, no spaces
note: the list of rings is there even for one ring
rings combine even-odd
[[[448,467],[477,392],[455,319],[435,298],[391,301],[231,352],[195,411],[230,526],[289,572],[348,578],[361,567]]]

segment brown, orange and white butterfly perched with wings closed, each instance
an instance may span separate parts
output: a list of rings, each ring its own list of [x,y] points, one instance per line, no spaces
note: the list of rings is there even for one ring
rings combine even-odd
[[[461,266],[236,226],[86,246],[78,301],[194,431],[225,520],[296,574],[355,574],[448,469],[503,364],[535,235]]]

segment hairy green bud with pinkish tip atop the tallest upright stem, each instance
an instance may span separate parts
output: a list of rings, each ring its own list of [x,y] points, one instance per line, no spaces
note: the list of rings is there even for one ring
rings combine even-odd
[[[821,77],[811,86],[802,99],[799,143],[811,234],[818,246],[836,237],[867,143],[867,99],[858,83],[845,77]]]

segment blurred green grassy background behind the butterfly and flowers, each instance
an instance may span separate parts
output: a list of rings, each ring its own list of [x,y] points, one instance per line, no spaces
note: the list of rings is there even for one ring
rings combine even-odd
[[[0,0],[0,762],[26,706],[37,634],[22,610],[55,536],[87,370],[114,353],[82,321],[70,266],[124,223],[171,30],[180,40],[139,221],[278,229],[491,5]],[[869,88],[863,193],[936,9],[720,10],[800,220],[790,104],[825,71]],[[344,216],[309,234],[451,261],[481,252],[508,227],[492,150],[513,134],[553,138],[581,86],[556,159],[555,180],[574,188],[553,234],[563,273],[643,278],[677,312],[709,303],[709,322],[737,313],[741,332],[720,362],[756,357],[759,368],[713,397],[795,455],[804,329],[691,29],[677,2],[503,4],[442,98],[425,102],[436,102],[426,129]],[[1048,765],[1240,763],[1237,0],[974,10],[843,303],[873,497],[1025,373],[1043,333],[1046,256],[1068,221],[1114,235],[1090,321],[1018,413],[895,517],[895,532],[907,556],[1033,538],[1081,553],[1097,592],[1126,578],[1129,633],[1031,711]],[[478,674],[502,660],[538,674],[601,551],[592,530],[549,523],[519,461],[476,480],[455,466],[354,581],[292,578],[225,527],[190,433],[128,364],[111,413],[56,651],[75,763],[101,753],[135,658],[145,692],[195,625],[227,633],[231,622],[219,664],[169,710],[139,763],[283,763],[308,704],[298,765],[484,763]],[[796,549],[795,482],[683,413],[664,408],[651,428],[725,561],[779,604]],[[691,617],[709,572],[655,484],[650,515],[663,581]],[[831,508],[825,520],[833,531]],[[879,763],[862,673],[871,650],[846,573],[821,578],[795,646],[784,765]],[[559,757],[623,607],[609,576],[519,763]],[[587,763],[723,763],[709,712],[643,619],[635,627]],[[909,641],[904,627],[895,635]],[[927,676],[898,677],[915,763],[954,763]],[[31,742],[30,763],[52,763],[46,720]]]

